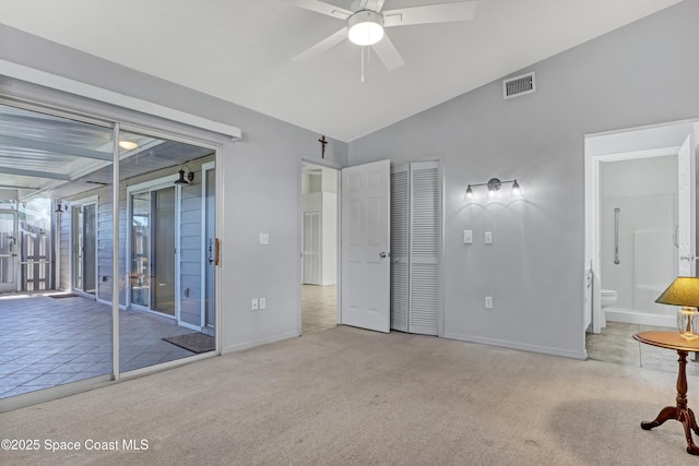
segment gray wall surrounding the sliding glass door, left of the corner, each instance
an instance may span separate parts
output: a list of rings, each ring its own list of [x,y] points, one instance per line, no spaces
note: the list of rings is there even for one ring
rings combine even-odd
[[[0,59],[240,128],[242,139],[234,143],[208,131],[28,86],[0,74],[0,94],[26,95],[221,143],[223,156],[216,174],[223,180],[217,195],[223,211],[218,218],[223,347],[233,350],[298,335],[299,170],[301,158],[320,162],[319,134],[4,25],[0,25]],[[346,165],[347,145],[331,140],[325,159]],[[269,246],[259,244],[259,232],[270,235]],[[266,309],[253,312],[250,299],[259,297],[266,298]]]

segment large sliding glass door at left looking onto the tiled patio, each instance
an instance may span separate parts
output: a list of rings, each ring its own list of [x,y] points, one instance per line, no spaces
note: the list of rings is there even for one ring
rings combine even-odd
[[[0,105],[0,291],[47,291],[0,301],[0,401],[215,349],[215,146],[64,113]]]

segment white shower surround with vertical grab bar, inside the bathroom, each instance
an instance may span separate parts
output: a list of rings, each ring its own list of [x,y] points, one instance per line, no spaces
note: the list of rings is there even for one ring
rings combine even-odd
[[[674,326],[674,309],[655,298],[677,276],[676,157],[602,165],[601,283],[607,291],[602,296],[606,320]],[[654,184],[645,182],[651,177]],[[616,302],[609,299],[613,291]]]

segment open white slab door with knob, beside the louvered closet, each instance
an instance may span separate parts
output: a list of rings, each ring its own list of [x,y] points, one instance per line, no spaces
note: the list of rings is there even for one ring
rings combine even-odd
[[[390,332],[389,160],[342,170],[341,322]]]

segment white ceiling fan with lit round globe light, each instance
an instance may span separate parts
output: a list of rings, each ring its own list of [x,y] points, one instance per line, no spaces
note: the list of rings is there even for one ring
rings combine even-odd
[[[296,5],[346,21],[346,26],[319,41],[292,60],[305,62],[345,39],[359,46],[370,46],[386,68],[391,71],[404,64],[393,43],[383,34],[384,27],[413,24],[469,21],[475,15],[477,1],[457,1],[381,11],[384,0],[355,0],[352,10],[319,0],[295,0]]]

